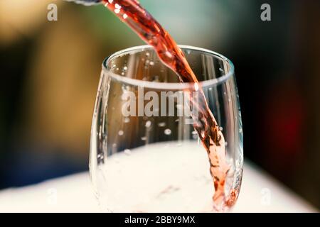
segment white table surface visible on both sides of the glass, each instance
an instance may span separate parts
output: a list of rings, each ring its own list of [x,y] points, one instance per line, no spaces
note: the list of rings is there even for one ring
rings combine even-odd
[[[235,212],[318,212],[279,182],[246,162]],[[0,191],[0,212],[100,212],[89,173]]]

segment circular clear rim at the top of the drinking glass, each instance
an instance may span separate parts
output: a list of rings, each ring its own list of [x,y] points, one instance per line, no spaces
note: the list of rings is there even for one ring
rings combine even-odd
[[[230,77],[233,76],[235,73],[235,67],[233,65],[233,62],[231,62],[227,57],[220,55],[218,52],[214,52],[212,50],[208,50],[205,48],[197,48],[191,45],[178,45],[179,48],[181,49],[187,49],[187,50],[197,50],[201,52],[206,52],[210,55],[215,55],[216,57],[220,57],[220,59],[228,62],[230,65],[230,70],[228,73],[224,74],[221,77],[214,78],[214,79],[207,79],[199,82],[198,84],[200,87],[212,87],[218,84],[221,84]],[[174,83],[169,83],[169,82],[150,82],[150,81],[144,81],[141,79],[133,79],[131,77],[124,77],[120,74],[111,72],[110,70],[107,69],[107,64],[112,60],[114,57],[121,57],[122,55],[127,55],[127,54],[132,54],[136,52],[141,52],[146,50],[147,48],[152,48],[151,45],[138,45],[134,46],[132,48],[126,48],[124,50],[119,50],[117,52],[114,52],[112,55],[108,56],[103,60],[102,62],[102,72],[106,72],[107,74],[110,75],[110,77],[118,82],[123,82],[125,84],[130,84],[134,85],[137,87],[146,87],[146,88],[151,88],[151,89],[188,89],[193,87],[194,83],[193,82],[174,82]]]

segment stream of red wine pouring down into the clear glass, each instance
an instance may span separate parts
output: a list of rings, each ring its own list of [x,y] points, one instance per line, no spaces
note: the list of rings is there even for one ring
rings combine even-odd
[[[190,96],[193,109],[198,115],[192,116],[193,127],[206,148],[210,162],[210,175],[213,177],[215,207],[233,206],[238,192],[233,190],[225,196],[225,179],[230,169],[226,160],[225,140],[211,113],[206,97],[198,83],[196,75],[188,65],[182,50],[178,48],[171,35],[136,0],[103,0],[105,6],[127,23],[142,40],[149,43],[164,64],[178,74],[180,82],[193,82],[193,91],[198,92],[198,101]]]

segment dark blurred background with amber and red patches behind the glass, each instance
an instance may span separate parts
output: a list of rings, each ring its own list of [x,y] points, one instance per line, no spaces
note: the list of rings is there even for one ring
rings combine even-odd
[[[233,61],[245,157],[320,208],[320,1],[140,2],[177,43]],[[0,1],[0,189],[88,169],[102,60],[142,44],[103,6]]]

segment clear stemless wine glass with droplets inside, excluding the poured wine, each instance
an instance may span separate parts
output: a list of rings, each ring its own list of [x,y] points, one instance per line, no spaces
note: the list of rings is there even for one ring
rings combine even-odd
[[[228,211],[238,198],[242,123],[233,64],[210,50],[180,47],[225,138],[230,169],[224,194],[233,196],[233,203],[213,206],[210,163],[187,98],[194,84],[178,82],[176,73],[144,45],[116,52],[102,65],[90,177],[103,211]]]

